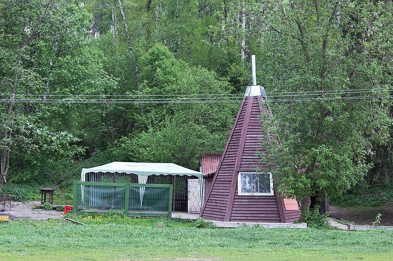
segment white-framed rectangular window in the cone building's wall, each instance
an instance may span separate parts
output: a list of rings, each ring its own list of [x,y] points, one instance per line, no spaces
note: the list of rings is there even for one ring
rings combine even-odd
[[[241,196],[273,195],[273,177],[271,172],[239,172],[237,193]]]

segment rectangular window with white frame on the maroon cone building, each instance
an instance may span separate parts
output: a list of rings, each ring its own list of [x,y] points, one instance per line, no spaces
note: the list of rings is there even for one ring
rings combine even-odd
[[[240,187],[241,194],[251,194],[251,193],[272,194],[271,191],[272,181],[271,181],[270,173],[245,172],[245,173],[239,173],[239,175],[240,175],[239,187]]]

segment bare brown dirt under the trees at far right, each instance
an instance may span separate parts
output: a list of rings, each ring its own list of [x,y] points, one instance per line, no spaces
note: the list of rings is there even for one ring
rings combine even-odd
[[[359,225],[370,225],[380,213],[382,226],[393,226],[393,204],[380,207],[337,207],[330,205],[330,216],[352,221]]]

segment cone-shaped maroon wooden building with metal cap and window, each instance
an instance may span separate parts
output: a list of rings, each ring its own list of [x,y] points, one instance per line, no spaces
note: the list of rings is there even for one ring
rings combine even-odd
[[[253,70],[254,72],[254,70]],[[253,78],[253,84],[255,83]],[[264,88],[247,87],[232,131],[226,142],[212,185],[206,193],[201,217],[237,222],[293,222],[300,218],[299,203],[282,199],[268,166],[260,165],[257,153],[265,137],[260,115],[271,115],[263,102]],[[261,171],[256,171],[258,168]]]

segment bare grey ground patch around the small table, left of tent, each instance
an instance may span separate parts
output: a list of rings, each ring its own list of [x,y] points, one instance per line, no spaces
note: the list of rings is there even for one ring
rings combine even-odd
[[[18,202],[11,201],[11,211],[9,206],[5,205],[5,212],[0,212],[0,215],[8,215],[12,220],[18,219],[56,219],[63,216],[62,212],[47,211],[42,209],[33,210],[35,205],[39,205],[39,201]],[[1,206],[2,207],[2,206]]]

